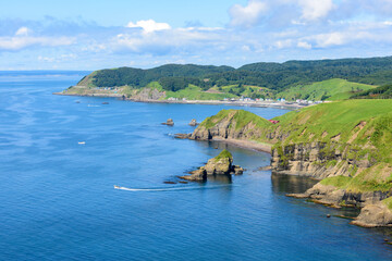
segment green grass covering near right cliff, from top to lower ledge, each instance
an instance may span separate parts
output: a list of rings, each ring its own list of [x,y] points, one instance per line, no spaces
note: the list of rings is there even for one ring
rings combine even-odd
[[[280,153],[293,144],[322,144],[322,157],[313,164],[335,170],[334,176],[323,184],[352,191],[392,188],[391,100],[323,103],[290,112],[279,120],[275,130],[287,134],[275,144]],[[285,158],[291,160],[290,156]]]

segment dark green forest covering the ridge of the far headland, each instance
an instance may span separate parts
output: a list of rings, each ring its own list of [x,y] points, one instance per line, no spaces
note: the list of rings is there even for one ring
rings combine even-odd
[[[209,89],[212,86],[253,85],[281,91],[296,85],[331,78],[384,85],[392,83],[392,57],[368,59],[339,59],[316,61],[287,61],[284,63],[253,63],[230,66],[167,64],[142,70],[119,67],[97,71],[91,84],[97,87],[128,85],[145,87],[158,80],[163,89],[176,91],[189,84]]]

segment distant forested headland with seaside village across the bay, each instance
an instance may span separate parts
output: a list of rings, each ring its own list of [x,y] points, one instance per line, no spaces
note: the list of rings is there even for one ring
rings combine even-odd
[[[172,103],[294,107],[348,99],[392,80],[392,58],[230,66],[166,64],[98,70],[56,95]]]

